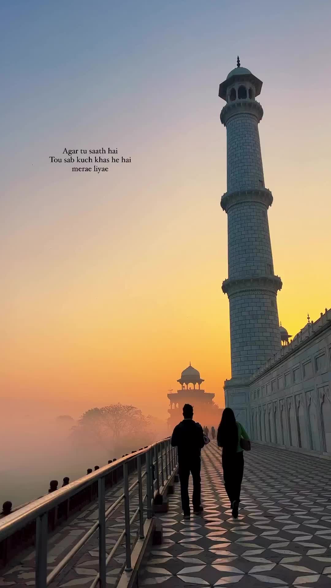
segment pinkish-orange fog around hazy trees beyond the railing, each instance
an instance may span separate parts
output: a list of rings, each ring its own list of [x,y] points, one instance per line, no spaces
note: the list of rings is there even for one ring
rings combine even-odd
[[[98,409],[98,420],[94,413],[91,418],[90,410],[85,412],[90,418],[85,416],[83,422],[79,413],[73,417],[65,407],[57,410],[56,414],[46,406],[1,401],[0,507],[5,500],[13,508],[22,505],[47,494],[50,480],[58,480],[61,487],[65,476],[72,482],[84,476],[88,467],[104,466],[108,459],[118,459],[167,435],[166,422],[146,419],[139,411],[143,424],[138,420],[133,429],[130,417],[130,426],[117,423],[115,435],[108,422],[101,422]]]

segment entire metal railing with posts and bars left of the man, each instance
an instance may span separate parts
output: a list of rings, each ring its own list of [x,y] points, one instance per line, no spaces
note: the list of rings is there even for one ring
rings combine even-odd
[[[142,465],[142,457],[145,457],[145,466]],[[129,463],[137,460],[137,479],[129,487]],[[75,480],[68,486],[62,487],[49,495],[42,496],[16,510],[4,519],[0,520],[0,542],[6,537],[22,529],[28,523],[36,523],[35,536],[35,586],[45,588],[58,576],[70,562],[72,557],[98,530],[99,571],[91,584],[91,588],[101,586],[106,588],[106,568],[116,550],[125,538],[125,570],[130,572],[131,567],[131,525],[139,517],[139,529],[137,540],[144,539],[144,514],[145,518],[153,516],[154,498],[162,492],[170,477],[177,467],[177,448],[170,444],[170,437],[145,447],[126,457],[122,457],[115,463],[101,467],[97,471]],[[117,500],[105,510],[105,476],[113,469],[123,465],[123,493]],[[47,539],[48,539],[48,514],[51,509],[68,500],[77,492],[98,483],[98,520],[72,547],[65,557],[47,575]],[[138,486],[138,507],[130,517],[130,495]],[[125,526],[112,547],[109,554],[106,553],[106,520],[117,507],[124,502]]]

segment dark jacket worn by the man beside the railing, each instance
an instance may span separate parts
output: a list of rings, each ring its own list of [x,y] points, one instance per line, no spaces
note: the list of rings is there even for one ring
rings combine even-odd
[[[184,419],[174,428],[171,445],[177,446],[178,462],[200,459],[204,447],[203,428],[193,419]]]

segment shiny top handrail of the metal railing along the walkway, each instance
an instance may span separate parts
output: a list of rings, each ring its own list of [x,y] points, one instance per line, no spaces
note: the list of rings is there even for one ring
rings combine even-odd
[[[108,465],[100,467],[95,472],[85,474],[85,476],[74,480],[74,482],[71,482],[67,486],[59,488],[58,490],[37,498],[36,500],[32,500],[32,502],[27,503],[27,505],[22,506],[9,515],[6,515],[4,519],[0,519],[0,541],[6,539],[6,537],[11,536],[13,533],[15,533],[15,531],[24,527],[25,524],[31,523],[37,519],[38,516],[48,513],[49,510],[55,506],[58,506],[65,500],[68,500],[71,496],[74,496],[77,494],[77,492],[80,492],[80,490],[84,490],[93,483],[98,482],[100,478],[107,476],[108,473],[117,469],[118,466],[130,462],[139,455],[148,453],[150,449],[167,440],[170,440],[170,437],[164,437],[164,439],[160,439],[157,442],[151,443],[151,445],[144,447],[144,449],[130,453],[129,455],[116,460],[116,462],[112,462]]]

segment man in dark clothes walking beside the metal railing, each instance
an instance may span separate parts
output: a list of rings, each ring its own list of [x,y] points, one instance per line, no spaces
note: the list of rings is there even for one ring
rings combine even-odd
[[[201,506],[201,449],[204,446],[203,428],[193,420],[193,406],[183,406],[183,416],[179,425],[174,428],[171,445],[177,446],[178,470],[180,479],[181,507],[184,519],[190,519],[190,497],[188,496],[188,479],[193,478],[193,513],[200,515]]]

